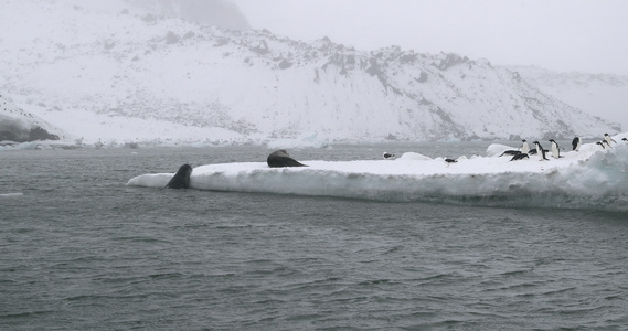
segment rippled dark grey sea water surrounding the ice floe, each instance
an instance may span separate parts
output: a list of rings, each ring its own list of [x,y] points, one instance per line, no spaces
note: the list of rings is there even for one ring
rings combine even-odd
[[[334,146],[300,160],[486,143]],[[599,210],[131,188],[254,147],[0,152],[1,330],[626,330],[628,220]]]

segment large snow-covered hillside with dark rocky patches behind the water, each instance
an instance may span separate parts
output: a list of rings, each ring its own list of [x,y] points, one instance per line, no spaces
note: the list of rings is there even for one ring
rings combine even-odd
[[[156,15],[123,0],[94,3],[4,0],[0,11],[0,89],[86,141],[542,139],[620,130],[485,60],[359,51],[326,38],[305,43]]]

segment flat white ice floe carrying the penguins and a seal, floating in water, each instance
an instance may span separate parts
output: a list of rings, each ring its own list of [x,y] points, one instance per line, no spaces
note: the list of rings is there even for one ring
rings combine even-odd
[[[489,150],[500,148],[489,147]],[[395,160],[301,161],[309,167],[269,168],[265,162],[193,169],[198,190],[339,196],[387,202],[435,201],[494,206],[628,211],[628,145],[594,143],[549,161],[539,156],[461,158],[447,163],[407,153]],[[173,173],[142,174],[127,185],[163,188]]]

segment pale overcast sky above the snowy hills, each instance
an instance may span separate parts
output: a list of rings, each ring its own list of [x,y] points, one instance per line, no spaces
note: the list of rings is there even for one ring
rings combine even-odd
[[[627,0],[234,0],[253,29],[497,65],[628,75]]]

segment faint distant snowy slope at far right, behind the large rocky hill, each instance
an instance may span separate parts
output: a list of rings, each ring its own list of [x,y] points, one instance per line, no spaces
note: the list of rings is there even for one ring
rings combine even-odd
[[[628,77],[608,74],[558,73],[539,66],[511,66],[525,81],[590,115],[617,118],[628,128]],[[619,116],[618,116],[619,115]]]

